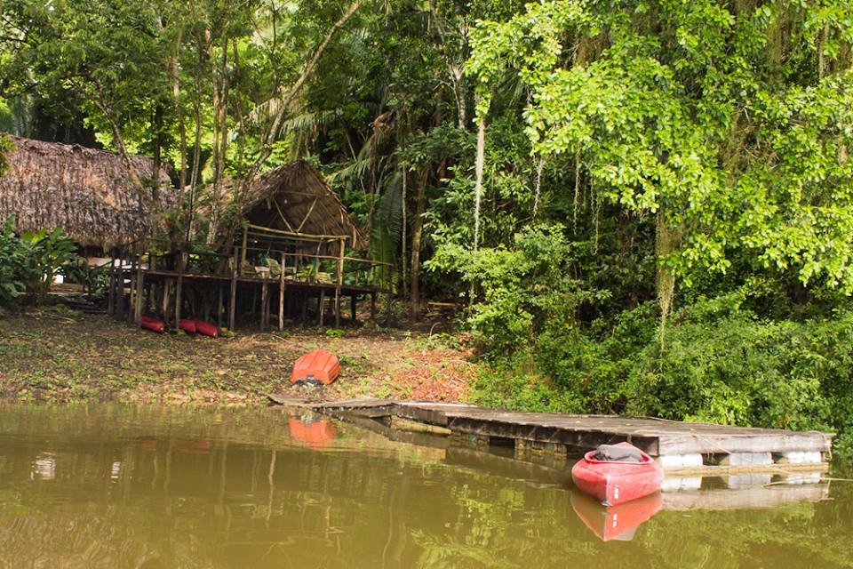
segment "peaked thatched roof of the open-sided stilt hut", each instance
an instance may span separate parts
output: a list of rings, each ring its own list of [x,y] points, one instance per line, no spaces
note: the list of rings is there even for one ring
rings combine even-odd
[[[234,180],[220,189],[233,195]],[[354,249],[367,246],[347,208],[314,167],[298,160],[260,174],[245,190],[240,217],[251,225],[294,236],[346,237]]]

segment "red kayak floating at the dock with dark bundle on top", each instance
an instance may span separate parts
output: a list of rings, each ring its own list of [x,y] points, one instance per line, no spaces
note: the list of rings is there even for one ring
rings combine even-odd
[[[601,445],[571,468],[571,479],[580,490],[606,506],[616,506],[656,493],[664,482],[664,470],[634,445]]]

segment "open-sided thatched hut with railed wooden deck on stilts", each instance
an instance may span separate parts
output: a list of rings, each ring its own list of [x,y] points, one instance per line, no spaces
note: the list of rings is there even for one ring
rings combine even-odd
[[[283,329],[286,318],[305,323],[309,313],[317,325],[355,321],[360,299],[370,300],[373,319],[381,293],[390,305],[381,284],[389,266],[363,257],[366,238],[306,162],[265,172],[243,189],[229,180],[205,197],[208,241],[129,244],[123,254],[130,269],[111,278],[111,312],[137,322],[143,315],[167,324],[187,317],[267,330],[275,317]]]

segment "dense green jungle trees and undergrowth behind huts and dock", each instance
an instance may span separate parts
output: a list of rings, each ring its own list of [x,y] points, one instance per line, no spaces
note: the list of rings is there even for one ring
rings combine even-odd
[[[307,158],[411,318],[466,307],[482,402],[851,432],[847,2],[3,11],[0,124],[171,164],[187,231]]]

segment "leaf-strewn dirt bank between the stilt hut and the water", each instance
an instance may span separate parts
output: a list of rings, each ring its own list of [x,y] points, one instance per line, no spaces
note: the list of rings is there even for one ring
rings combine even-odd
[[[315,348],[341,362],[326,388],[291,388],[293,362]],[[214,340],[155,334],[106,316],[42,310],[0,317],[0,394],[23,400],[259,404],[265,393],[338,399],[465,401],[468,352],[426,334],[319,331],[238,334]]]

